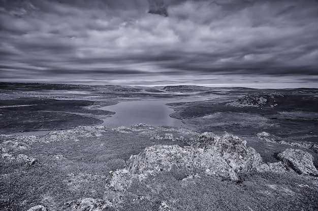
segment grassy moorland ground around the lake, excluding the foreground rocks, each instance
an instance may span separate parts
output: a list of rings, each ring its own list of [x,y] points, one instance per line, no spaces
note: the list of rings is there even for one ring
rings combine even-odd
[[[276,162],[277,154],[286,148],[299,148],[313,155],[317,167],[318,154],[312,149],[278,142],[317,142],[317,90],[279,90],[275,102],[269,98],[258,107],[229,105],[272,92],[0,83],[2,134],[98,124],[112,114],[99,107],[141,99],[182,99],[169,104],[176,111],[171,116],[192,129],[92,126],[43,137],[0,135],[0,210],[27,210],[42,204],[52,211],[85,197],[109,200],[117,210],[160,210],[163,204],[170,210],[317,210],[318,179],[293,171],[253,171],[228,181],[173,168],[136,180],[123,192],[106,187],[109,171],[124,168],[132,154],[156,144],[184,146],[206,131],[238,135],[264,162]],[[258,103],[254,98],[251,102]],[[274,103],[277,106],[271,107]],[[270,134],[269,141],[258,137],[263,131]],[[28,163],[21,154],[35,158],[35,163]]]

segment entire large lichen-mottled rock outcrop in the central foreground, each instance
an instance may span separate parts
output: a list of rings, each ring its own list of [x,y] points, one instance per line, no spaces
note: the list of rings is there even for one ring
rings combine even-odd
[[[248,172],[262,164],[262,158],[246,141],[226,134],[201,134],[191,146],[154,145],[126,162],[126,169],[110,172],[108,187],[123,191],[133,180],[169,172],[173,168],[189,174],[206,174],[220,179],[237,180],[240,172]]]

